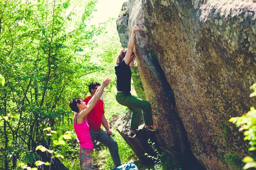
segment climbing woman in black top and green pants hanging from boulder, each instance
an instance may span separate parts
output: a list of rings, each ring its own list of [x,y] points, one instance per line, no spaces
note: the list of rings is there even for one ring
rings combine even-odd
[[[143,110],[143,119],[145,122],[145,127],[151,132],[157,132],[158,129],[154,128],[152,119],[152,109],[151,105],[147,100],[140,99],[138,97],[132,96],[131,91],[131,67],[133,65],[135,55],[133,52],[134,41],[135,41],[135,31],[140,30],[140,28],[134,25],[131,37],[128,43],[127,49],[122,49],[116,61],[115,71],[116,71],[116,101],[124,106],[127,106],[131,111],[131,136],[134,136],[139,132],[138,127],[140,124],[140,116]]]

